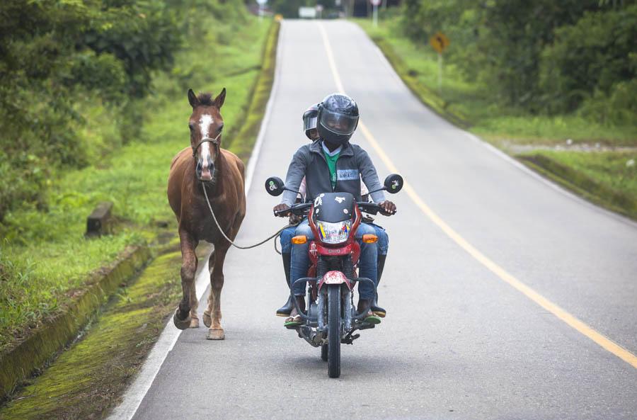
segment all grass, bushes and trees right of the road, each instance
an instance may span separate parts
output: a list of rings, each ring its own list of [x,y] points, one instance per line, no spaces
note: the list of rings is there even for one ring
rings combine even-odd
[[[637,218],[635,1],[407,0],[357,21],[440,115]],[[451,41],[437,52],[429,38]]]

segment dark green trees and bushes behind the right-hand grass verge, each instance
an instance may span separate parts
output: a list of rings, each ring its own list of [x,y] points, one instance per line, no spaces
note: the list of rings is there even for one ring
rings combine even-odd
[[[599,102],[620,107],[599,120],[634,123],[636,16],[635,1],[407,0],[402,23],[415,42],[447,34],[448,62],[491,101],[531,113],[588,102],[585,115]]]

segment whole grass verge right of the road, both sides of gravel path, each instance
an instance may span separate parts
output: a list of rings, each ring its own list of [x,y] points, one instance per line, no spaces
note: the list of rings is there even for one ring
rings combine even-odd
[[[396,18],[381,22],[378,28],[369,20],[356,22],[379,45],[409,89],[443,118],[575,193],[637,219],[637,171],[635,166],[626,166],[637,157],[637,125],[601,125],[577,113],[531,115],[505,108],[486,99],[488,86],[468,81],[453,64],[444,65],[440,92],[437,53],[430,45],[408,40]],[[583,151],[569,151],[568,140]],[[598,152],[597,144],[606,150],[601,147],[604,152]],[[563,149],[556,149],[558,145]],[[613,150],[616,147],[623,149]],[[527,152],[519,154],[521,149]]]

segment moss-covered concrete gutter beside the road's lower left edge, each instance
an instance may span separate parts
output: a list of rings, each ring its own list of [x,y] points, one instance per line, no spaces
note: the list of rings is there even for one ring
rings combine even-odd
[[[181,255],[120,288],[83,338],[0,410],[3,420],[101,419],[142,365],[180,295]]]

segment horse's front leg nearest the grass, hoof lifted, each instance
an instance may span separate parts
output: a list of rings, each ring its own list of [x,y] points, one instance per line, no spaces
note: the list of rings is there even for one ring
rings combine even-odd
[[[190,315],[193,305],[195,316],[197,310],[197,296],[195,295],[195,273],[197,272],[195,246],[197,244],[185,230],[179,231],[179,240],[181,245],[181,289],[183,297],[173,315],[173,322],[178,329],[187,329],[190,327]]]

